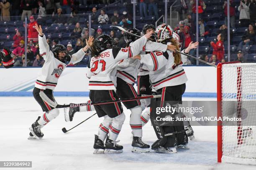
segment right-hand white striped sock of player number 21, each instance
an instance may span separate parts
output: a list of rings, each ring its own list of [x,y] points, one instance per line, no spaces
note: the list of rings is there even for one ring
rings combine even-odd
[[[121,113],[120,115],[113,118],[112,124],[109,126],[109,139],[115,141],[120,133],[120,130],[125,121],[125,114]]]

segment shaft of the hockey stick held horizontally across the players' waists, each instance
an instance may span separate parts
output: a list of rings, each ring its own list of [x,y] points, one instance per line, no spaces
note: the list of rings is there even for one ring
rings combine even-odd
[[[86,103],[79,103],[79,104],[71,103],[69,105],[57,105],[55,108],[77,107],[77,106],[87,106],[87,105],[105,105],[105,104],[114,103],[114,102],[128,102],[128,101],[139,100],[139,99],[159,98],[161,96],[162,95],[148,95],[148,96],[127,98],[127,99],[106,100],[106,101],[100,101],[100,102],[86,102]]]

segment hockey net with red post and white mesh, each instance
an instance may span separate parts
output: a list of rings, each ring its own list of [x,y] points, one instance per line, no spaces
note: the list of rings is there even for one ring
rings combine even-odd
[[[256,63],[220,63],[217,67],[218,162],[256,165]],[[222,119],[223,120],[223,119]]]

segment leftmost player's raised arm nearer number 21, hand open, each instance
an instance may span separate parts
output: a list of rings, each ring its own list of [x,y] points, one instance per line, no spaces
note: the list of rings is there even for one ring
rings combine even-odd
[[[77,62],[80,62],[83,59],[85,52],[92,46],[93,41],[94,38],[90,36],[89,39],[86,40],[86,46],[74,53],[69,63],[76,64]]]

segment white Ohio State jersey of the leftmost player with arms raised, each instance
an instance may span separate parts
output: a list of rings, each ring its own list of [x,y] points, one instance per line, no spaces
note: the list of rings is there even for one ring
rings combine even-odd
[[[43,35],[41,37],[38,35],[38,45],[40,55],[44,58],[45,62],[40,72],[38,73],[37,80],[35,82],[35,87],[39,89],[51,89],[54,90],[56,87],[59,77],[67,67],[67,64],[61,62],[54,57],[53,52],[50,51],[49,45],[46,42],[46,37]],[[69,64],[75,64],[80,62],[85,55],[83,49],[74,53],[71,57]]]

